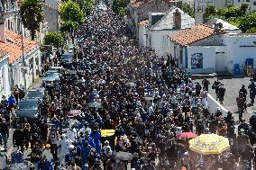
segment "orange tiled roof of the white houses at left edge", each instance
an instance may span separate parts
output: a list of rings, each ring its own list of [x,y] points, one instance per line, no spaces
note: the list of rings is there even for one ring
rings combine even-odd
[[[4,50],[10,55],[9,63],[14,63],[18,58],[23,55],[22,50],[22,36],[14,31],[6,30],[6,43],[0,42],[0,49]],[[23,37],[24,53],[30,52],[32,49],[38,47],[38,43]]]

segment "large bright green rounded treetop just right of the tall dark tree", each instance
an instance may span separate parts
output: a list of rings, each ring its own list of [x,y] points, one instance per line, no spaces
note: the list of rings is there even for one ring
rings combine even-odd
[[[84,22],[85,14],[80,9],[78,3],[69,0],[59,6],[60,18],[64,22],[78,22],[82,24]]]

